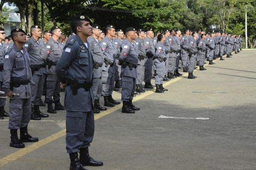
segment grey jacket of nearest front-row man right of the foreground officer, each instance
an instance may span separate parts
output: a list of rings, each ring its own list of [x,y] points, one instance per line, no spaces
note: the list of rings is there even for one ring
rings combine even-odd
[[[139,53],[135,42],[130,42],[130,40],[126,38],[121,44],[121,55],[119,60],[128,60],[133,63],[138,63],[138,55]],[[137,78],[137,71],[134,67],[130,70],[129,66],[126,66],[125,68],[121,66],[121,74],[122,76]]]

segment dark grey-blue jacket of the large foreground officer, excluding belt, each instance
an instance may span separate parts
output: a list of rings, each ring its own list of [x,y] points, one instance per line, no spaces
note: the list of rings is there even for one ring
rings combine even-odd
[[[78,79],[79,83],[93,79],[93,57],[90,45],[86,45],[78,35],[67,41],[60,60],[56,65],[56,74],[61,83],[66,84],[66,76]],[[93,109],[93,90],[84,88],[73,95],[70,86],[65,90],[65,109],[73,112],[90,112]]]

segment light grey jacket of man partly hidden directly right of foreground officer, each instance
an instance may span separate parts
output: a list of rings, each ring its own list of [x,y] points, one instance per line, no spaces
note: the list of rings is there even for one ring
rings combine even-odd
[[[102,64],[104,60],[103,53],[98,41],[93,36],[91,36],[87,39],[87,43],[90,45],[93,61]],[[102,67],[99,67],[98,69],[93,68],[93,78],[101,78],[101,72]]]

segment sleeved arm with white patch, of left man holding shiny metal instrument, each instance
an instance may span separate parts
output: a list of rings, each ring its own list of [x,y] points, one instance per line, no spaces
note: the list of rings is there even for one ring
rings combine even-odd
[[[3,64],[3,87],[2,90],[5,93],[12,92],[10,89],[10,81],[11,81],[11,72],[12,67],[15,63],[15,55],[12,53],[7,53],[4,58]]]

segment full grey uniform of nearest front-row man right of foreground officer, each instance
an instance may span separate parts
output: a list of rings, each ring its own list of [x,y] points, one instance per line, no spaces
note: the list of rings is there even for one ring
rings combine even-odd
[[[138,49],[135,42],[125,39],[121,45],[120,61],[122,61],[122,101],[133,100],[136,78],[137,78],[137,63],[138,63]],[[126,65],[125,65],[126,63]]]

